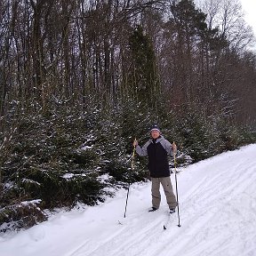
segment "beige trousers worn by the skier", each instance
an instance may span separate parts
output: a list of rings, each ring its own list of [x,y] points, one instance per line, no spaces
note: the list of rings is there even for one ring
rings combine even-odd
[[[152,181],[152,206],[156,209],[159,208],[161,202],[161,194],[160,194],[160,183],[164,188],[164,194],[166,196],[167,204],[170,209],[173,209],[177,206],[176,196],[173,193],[172,182],[170,177],[164,178],[151,178]]]

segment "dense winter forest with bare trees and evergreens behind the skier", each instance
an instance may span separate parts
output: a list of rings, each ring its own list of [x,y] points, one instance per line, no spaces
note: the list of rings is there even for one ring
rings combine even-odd
[[[148,180],[151,124],[179,166],[255,143],[255,43],[239,0],[2,0],[0,232]]]

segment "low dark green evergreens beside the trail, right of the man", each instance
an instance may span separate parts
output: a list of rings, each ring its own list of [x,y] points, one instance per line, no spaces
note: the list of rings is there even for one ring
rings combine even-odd
[[[255,142],[253,132],[245,132],[243,127],[232,125],[224,117],[206,117],[203,111],[192,108],[180,117],[174,131],[176,144],[193,162]]]

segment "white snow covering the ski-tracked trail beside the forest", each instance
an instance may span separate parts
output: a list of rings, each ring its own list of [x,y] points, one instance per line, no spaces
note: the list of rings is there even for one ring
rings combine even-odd
[[[256,255],[256,144],[191,164],[177,173],[180,224],[162,191],[148,212],[150,182],[120,189],[103,204],[59,212],[17,234],[0,236],[1,256]],[[175,180],[172,174],[172,185]]]

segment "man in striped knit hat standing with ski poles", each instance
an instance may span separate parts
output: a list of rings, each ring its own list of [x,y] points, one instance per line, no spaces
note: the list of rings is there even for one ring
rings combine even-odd
[[[140,148],[138,141],[134,140],[133,147],[139,156],[148,156],[148,169],[152,181],[152,209],[149,212],[156,211],[161,202],[160,183],[164,188],[167,204],[170,213],[175,212],[177,206],[176,196],[173,194],[172,182],[170,179],[170,169],[168,163],[168,155],[173,156],[177,151],[176,145],[165,140],[163,135],[155,124],[150,130],[152,139]]]

